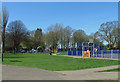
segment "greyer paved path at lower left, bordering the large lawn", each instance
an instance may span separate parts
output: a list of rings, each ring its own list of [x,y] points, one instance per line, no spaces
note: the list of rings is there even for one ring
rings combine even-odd
[[[20,66],[2,66],[3,80],[61,80],[62,74],[42,70],[38,68],[28,68]]]

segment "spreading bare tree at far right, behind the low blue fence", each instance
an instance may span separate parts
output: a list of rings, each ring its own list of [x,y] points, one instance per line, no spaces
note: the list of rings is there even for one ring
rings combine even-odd
[[[101,24],[100,29],[96,32],[96,35],[106,41],[110,47],[115,47],[118,41],[118,21],[106,22]]]

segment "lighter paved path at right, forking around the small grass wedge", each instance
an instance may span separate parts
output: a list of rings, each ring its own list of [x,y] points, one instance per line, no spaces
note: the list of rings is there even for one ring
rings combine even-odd
[[[118,72],[96,72],[108,69],[115,69],[120,67],[120,65],[107,66],[100,68],[91,68],[77,71],[56,71],[64,75],[64,79],[67,80],[117,80]]]

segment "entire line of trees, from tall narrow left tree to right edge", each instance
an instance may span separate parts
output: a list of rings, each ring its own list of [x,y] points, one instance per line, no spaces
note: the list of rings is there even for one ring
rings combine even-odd
[[[120,47],[120,29],[118,21],[111,21],[101,24],[99,30],[91,35],[87,35],[84,30],[75,30],[70,26],[63,27],[63,24],[50,25],[47,32],[43,33],[41,28],[29,31],[21,20],[15,20],[7,25],[9,15],[6,8],[3,8],[2,42],[3,52],[5,50],[19,51],[20,47],[27,49],[40,49],[44,51],[46,47],[53,49],[69,49],[76,46],[77,42],[99,42],[103,46],[106,41],[108,48]],[[6,28],[7,27],[7,28]],[[88,30],[89,31],[89,30]]]

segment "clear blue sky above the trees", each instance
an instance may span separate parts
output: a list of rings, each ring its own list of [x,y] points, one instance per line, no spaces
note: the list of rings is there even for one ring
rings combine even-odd
[[[3,2],[9,21],[21,20],[28,30],[43,32],[56,23],[95,33],[102,23],[118,20],[117,2]]]

